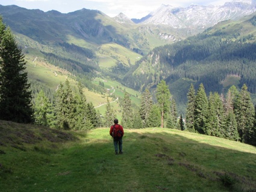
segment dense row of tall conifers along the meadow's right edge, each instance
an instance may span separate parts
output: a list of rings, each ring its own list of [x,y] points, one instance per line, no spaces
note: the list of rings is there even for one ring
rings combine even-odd
[[[208,97],[203,84],[196,93],[192,84],[187,97],[188,131],[256,145],[255,107],[245,84],[240,91],[233,85],[226,96]]]

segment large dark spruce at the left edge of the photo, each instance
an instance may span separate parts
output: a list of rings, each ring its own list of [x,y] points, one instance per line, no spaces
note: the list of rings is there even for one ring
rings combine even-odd
[[[25,60],[10,28],[0,17],[0,119],[33,122],[30,84]]]

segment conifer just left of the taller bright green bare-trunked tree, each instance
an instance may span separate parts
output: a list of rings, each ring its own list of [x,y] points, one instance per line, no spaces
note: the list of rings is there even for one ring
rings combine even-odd
[[[142,94],[142,99],[141,99],[140,109],[139,109],[143,126],[146,126],[146,122],[148,121],[149,112],[151,110],[152,105],[153,105],[153,101],[152,101],[151,93],[149,92],[148,88],[146,88]]]

